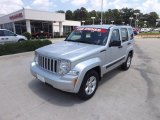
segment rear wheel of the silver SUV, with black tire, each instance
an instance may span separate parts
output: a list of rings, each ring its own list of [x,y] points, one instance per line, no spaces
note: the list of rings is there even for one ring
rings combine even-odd
[[[121,65],[121,69],[122,70],[128,70],[131,66],[131,63],[132,63],[132,55],[129,54],[127,59],[126,59],[126,62]]]

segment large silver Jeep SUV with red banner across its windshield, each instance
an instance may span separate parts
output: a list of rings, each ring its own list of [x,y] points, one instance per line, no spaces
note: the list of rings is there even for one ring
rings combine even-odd
[[[133,43],[130,26],[81,26],[65,41],[37,49],[31,73],[44,83],[86,100],[94,95],[105,73],[118,66],[129,69]]]

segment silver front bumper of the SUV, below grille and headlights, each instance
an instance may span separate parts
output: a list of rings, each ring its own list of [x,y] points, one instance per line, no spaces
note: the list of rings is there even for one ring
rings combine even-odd
[[[33,76],[37,78],[40,75],[44,78],[45,83],[52,85],[54,88],[62,91],[74,92],[74,88],[78,77],[73,75],[60,76],[40,68],[35,62],[31,63],[30,71]]]

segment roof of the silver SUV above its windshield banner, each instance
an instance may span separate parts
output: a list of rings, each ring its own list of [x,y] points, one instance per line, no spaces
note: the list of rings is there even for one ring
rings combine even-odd
[[[132,28],[131,26],[127,26],[127,25],[84,25],[84,26],[80,26],[82,28],[102,28],[102,29],[110,29],[112,27],[125,27],[125,28]]]

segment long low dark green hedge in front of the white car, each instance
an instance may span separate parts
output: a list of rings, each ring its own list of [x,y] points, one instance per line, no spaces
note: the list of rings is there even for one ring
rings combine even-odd
[[[37,48],[46,46],[52,44],[49,40],[27,40],[24,42],[17,42],[17,43],[9,43],[0,45],[0,56],[2,55],[9,55],[9,54],[15,54],[15,53],[22,53],[22,52],[29,52],[34,51]]]

